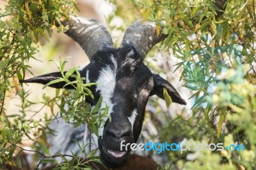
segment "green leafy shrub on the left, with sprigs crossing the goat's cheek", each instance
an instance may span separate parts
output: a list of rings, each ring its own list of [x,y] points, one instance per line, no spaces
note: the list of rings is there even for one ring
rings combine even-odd
[[[93,86],[94,83],[83,84],[84,78],[81,78],[77,67],[71,68],[64,73],[67,59],[60,59],[60,63],[56,63],[58,69],[63,75],[63,78],[57,79],[54,82],[65,81],[67,85],[74,86],[75,91],[60,91],[56,90],[56,97],[51,98],[48,95],[42,97],[42,108],[38,111],[32,111],[32,116],[29,116],[29,107],[37,103],[28,100],[29,91],[26,91],[19,84],[19,80],[25,79],[26,73],[30,72],[28,61],[36,59],[34,54],[40,50],[39,38],[44,37],[49,42],[49,36],[52,35],[52,30],[57,29],[63,32],[67,27],[61,26],[60,19],[67,19],[68,15],[74,15],[78,10],[76,1],[8,1],[8,5],[1,11],[0,21],[0,165],[9,162],[14,166],[22,166],[22,154],[28,151],[34,154],[35,159],[40,159],[39,162],[30,162],[30,168],[38,167],[45,162],[56,162],[54,157],[63,158],[63,164],[60,168],[76,168],[77,166],[88,166],[88,161],[83,162],[79,155],[51,155],[47,149],[46,134],[52,133],[53,130],[48,127],[48,124],[56,117],[54,105],[60,107],[61,114],[59,117],[64,118],[67,122],[72,120],[75,126],[79,126],[84,121],[87,121],[92,131],[97,134],[98,127],[104,123],[102,118],[106,115],[96,115],[99,112],[100,102],[91,110],[90,105],[84,104],[84,99],[87,95],[93,97],[88,86]],[[2,20],[3,19],[3,20]],[[56,23],[60,26],[56,27]],[[42,38],[41,38],[42,39]],[[73,73],[76,72],[76,75]],[[33,74],[33,73],[32,73]],[[68,77],[74,77],[76,81],[68,81]],[[47,84],[46,86],[49,86]],[[15,88],[17,95],[20,97],[19,112],[8,112],[4,108],[5,98],[10,94],[11,88]],[[64,106],[68,106],[68,110]],[[38,112],[45,107],[49,107],[52,116],[45,113],[44,118],[39,120],[35,117]],[[107,110],[107,109],[106,109]],[[31,115],[31,114],[30,114]],[[83,116],[82,116],[83,115]],[[26,141],[33,141],[32,150],[24,148],[23,144]],[[84,152],[85,146],[79,146],[81,153]],[[98,157],[94,157],[95,151],[88,155],[93,161],[99,162]],[[67,163],[65,157],[72,157],[72,161]],[[13,160],[13,158],[15,160]],[[24,157],[23,157],[24,158]],[[76,164],[74,164],[76,160]],[[58,162],[56,162],[58,163]],[[33,165],[35,164],[35,165]]]

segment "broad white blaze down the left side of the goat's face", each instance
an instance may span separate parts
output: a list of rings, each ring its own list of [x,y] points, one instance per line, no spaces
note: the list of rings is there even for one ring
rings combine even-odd
[[[117,62],[116,59],[111,55],[111,61],[113,61],[114,68],[111,68],[111,66],[107,65],[102,70],[100,70],[99,73],[99,79],[97,79],[97,88],[96,91],[99,91],[100,95],[102,96],[102,104],[100,106],[100,109],[105,107],[106,104],[108,104],[109,110],[108,110],[108,116],[111,112],[113,112],[113,104],[111,102],[111,98],[113,97],[114,89],[116,86],[116,70],[117,70]],[[105,117],[106,121],[108,118]],[[102,136],[104,127],[99,128],[99,135]]]

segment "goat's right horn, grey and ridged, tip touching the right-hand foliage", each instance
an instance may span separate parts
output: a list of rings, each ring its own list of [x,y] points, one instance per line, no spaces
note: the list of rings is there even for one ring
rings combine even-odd
[[[137,20],[126,29],[122,45],[132,45],[144,59],[148,51],[166,37],[167,35],[163,34],[157,36],[154,22]]]

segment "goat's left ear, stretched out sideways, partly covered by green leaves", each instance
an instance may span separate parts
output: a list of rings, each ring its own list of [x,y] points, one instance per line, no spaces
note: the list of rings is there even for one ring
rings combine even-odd
[[[65,75],[66,72],[64,72]],[[74,72],[73,74],[75,74],[76,72]],[[47,84],[48,82],[54,81],[56,79],[58,79],[58,77],[62,77],[61,72],[53,72],[53,73],[47,73],[44,75],[39,75],[37,77],[33,77],[31,79],[27,79],[27,80],[20,80],[21,83],[26,83],[26,82],[33,82],[33,83],[40,83],[40,84]],[[68,77],[69,81],[76,81],[76,78],[74,77]],[[66,84],[66,82],[62,81],[62,82],[56,82],[54,84],[49,85],[52,88],[63,88],[63,86]],[[65,86],[65,89],[74,89],[73,86]]]

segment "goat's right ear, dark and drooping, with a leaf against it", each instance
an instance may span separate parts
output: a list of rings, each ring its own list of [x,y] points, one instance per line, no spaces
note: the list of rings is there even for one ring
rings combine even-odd
[[[150,96],[157,95],[158,97],[164,98],[163,94],[163,88],[166,88],[168,91],[168,94],[172,98],[172,102],[175,102],[177,104],[186,105],[187,103],[183,98],[180,97],[179,93],[175,88],[173,88],[172,84],[170,82],[164,80],[160,75],[158,74],[152,74],[154,79],[154,88],[150,92]]]

